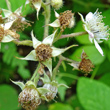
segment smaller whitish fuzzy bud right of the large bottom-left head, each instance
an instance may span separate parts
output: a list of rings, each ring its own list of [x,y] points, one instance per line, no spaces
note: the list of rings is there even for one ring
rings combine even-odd
[[[51,91],[51,92],[47,92],[47,93],[45,94],[46,98],[47,98],[49,101],[55,98],[55,96],[56,96],[56,94],[57,94],[57,91],[58,91],[58,89],[57,89],[56,86],[51,85],[51,84],[44,84],[43,88],[46,88],[46,89],[48,89],[48,90]]]

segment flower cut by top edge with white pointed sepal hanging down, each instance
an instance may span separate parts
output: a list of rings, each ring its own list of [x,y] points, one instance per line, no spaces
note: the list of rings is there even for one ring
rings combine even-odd
[[[29,3],[31,3],[35,7],[35,9],[37,11],[37,18],[38,18],[42,0],[26,0],[25,5],[29,4]]]

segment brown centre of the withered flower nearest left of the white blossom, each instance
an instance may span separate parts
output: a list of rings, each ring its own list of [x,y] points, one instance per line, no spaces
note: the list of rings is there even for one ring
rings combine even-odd
[[[66,27],[69,26],[70,21],[73,17],[74,13],[72,13],[70,10],[64,11],[63,13],[60,13],[59,21],[61,25],[61,30],[63,31]]]

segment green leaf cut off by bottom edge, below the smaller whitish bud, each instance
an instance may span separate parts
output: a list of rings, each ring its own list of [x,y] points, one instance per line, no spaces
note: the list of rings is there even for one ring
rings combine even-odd
[[[73,110],[73,108],[68,104],[54,103],[49,106],[49,110]]]

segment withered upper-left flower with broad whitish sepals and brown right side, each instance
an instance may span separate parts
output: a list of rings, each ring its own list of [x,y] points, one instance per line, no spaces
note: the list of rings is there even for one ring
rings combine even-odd
[[[30,23],[28,23],[29,21],[21,16],[22,6],[14,12],[6,9],[2,9],[2,11],[5,15],[5,17],[3,18],[5,20],[5,23],[9,23],[9,25],[5,26],[7,29],[11,29],[16,32],[24,30],[24,28],[28,26],[31,26]]]

